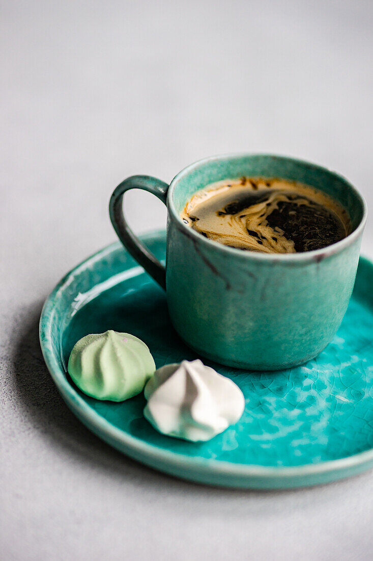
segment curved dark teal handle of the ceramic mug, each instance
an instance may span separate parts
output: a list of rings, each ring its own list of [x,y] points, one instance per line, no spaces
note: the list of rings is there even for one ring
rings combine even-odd
[[[166,268],[158,259],[147,250],[137,236],[128,226],[124,217],[122,200],[126,191],[130,189],[143,189],[155,195],[167,205],[167,190],[169,186],[164,181],[150,176],[128,177],[115,188],[109,203],[109,214],[119,240],[128,250],[130,255],[143,266],[147,273],[166,290]]]

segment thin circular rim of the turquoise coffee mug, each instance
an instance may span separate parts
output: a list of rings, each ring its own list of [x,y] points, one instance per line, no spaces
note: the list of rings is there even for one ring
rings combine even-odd
[[[335,178],[337,178],[339,181],[343,181],[344,183],[346,183],[346,185],[352,190],[353,194],[356,196],[356,198],[360,201],[361,207],[362,207],[362,218],[360,220],[360,223],[358,224],[358,226],[355,228],[355,230],[353,232],[351,232],[350,234],[348,234],[348,236],[346,236],[345,238],[343,238],[342,240],[339,240],[338,242],[332,243],[328,246],[325,247],[321,247],[320,249],[316,249],[316,250],[311,250],[311,251],[302,251],[299,253],[285,253],[285,254],[267,254],[267,253],[261,253],[261,252],[257,252],[257,251],[241,251],[240,249],[237,249],[236,247],[230,247],[230,246],[226,246],[223,245],[222,243],[218,243],[216,241],[213,240],[209,240],[209,238],[206,238],[204,236],[201,236],[201,234],[199,234],[198,232],[195,232],[192,228],[189,228],[189,226],[186,226],[186,224],[183,222],[183,220],[181,219],[178,211],[176,211],[175,205],[174,205],[174,200],[173,200],[173,196],[174,196],[174,191],[175,188],[178,186],[179,181],[181,180],[181,178],[185,177],[186,175],[188,175],[191,171],[193,171],[193,169],[196,169],[198,167],[200,167],[203,164],[206,164],[208,162],[214,162],[214,161],[222,161],[222,160],[231,160],[231,159],[238,159],[238,158],[252,158],[252,157],[269,157],[269,158],[277,158],[277,159],[281,159],[281,160],[286,160],[287,162],[294,162],[294,163],[298,163],[301,165],[306,165],[308,168],[313,168],[316,170],[319,170],[321,172],[326,172],[332,176],[334,176]],[[364,199],[364,197],[361,195],[361,193],[357,190],[357,188],[355,186],[352,185],[352,183],[350,183],[346,177],[342,176],[341,174],[337,173],[337,172],[333,172],[332,170],[322,166],[322,165],[318,165],[318,164],[314,164],[312,162],[308,162],[307,160],[303,160],[300,158],[292,158],[292,157],[288,157],[288,156],[283,156],[281,154],[269,154],[269,153],[260,153],[260,152],[235,152],[235,153],[231,153],[231,154],[221,154],[221,155],[214,155],[214,156],[208,156],[207,158],[202,158],[200,160],[197,160],[197,162],[193,162],[192,164],[187,165],[185,168],[181,169],[181,171],[179,173],[176,174],[176,176],[172,179],[169,189],[167,191],[167,211],[168,213],[171,215],[171,217],[174,219],[176,226],[179,228],[179,230],[181,232],[183,232],[183,234],[189,238],[191,238],[192,240],[194,240],[195,242],[199,242],[202,243],[202,245],[206,245],[207,247],[215,248],[216,251],[221,251],[223,253],[225,253],[226,255],[230,255],[232,257],[237,257],[239,259],[253,259],[253,260],[258,260],[258,261],[264,261],[264,262],[274,262],[274,261],[289,261],[291,263],[308,263],[310,261],[319,261],[321,259],[324,259],[324,257],[330,256],[330,255],[334,255],[337,254],[341,251],[343,251],[344,249],[346,249],[347,247],[351,246],[353,242],[355,242],[355,240],[357,240],[357,238],[359,236],[361,236],[362,231],[365,227],[365,223],[366,223],[366,219],[367,219],[367,204],[366,201]]]

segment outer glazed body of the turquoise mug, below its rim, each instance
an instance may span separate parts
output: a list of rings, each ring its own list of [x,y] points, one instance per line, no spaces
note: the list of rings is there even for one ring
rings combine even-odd
[[[169,219],[172,324],[190,347],[222,364],[254,370],[301,364],[318,355],[341,324],[359,247],[356,240],[306,263],[243,259],[200,245]]]

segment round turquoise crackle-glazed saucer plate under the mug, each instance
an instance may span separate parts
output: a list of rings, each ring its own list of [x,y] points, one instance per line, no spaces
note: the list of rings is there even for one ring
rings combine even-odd
[[[165,259],[165,233],[142,240]],[[157,470],[212,485],[279,489],[341,479],[373,466],[373,264],[361,258],[341,328],[314,360],[255,372],[204,361],[243,390],[236,425],[206,443],[158,434],[143,394],[123,403],[85,396],[67,374],[74,343],[108,329],[141,338],[156,366],[196,358],[171,327],[160,287],[114,243],[83,261],[46,300],[40,342],[68,407],[88,429]],[[185,310],[188,314],[188,310]]]

